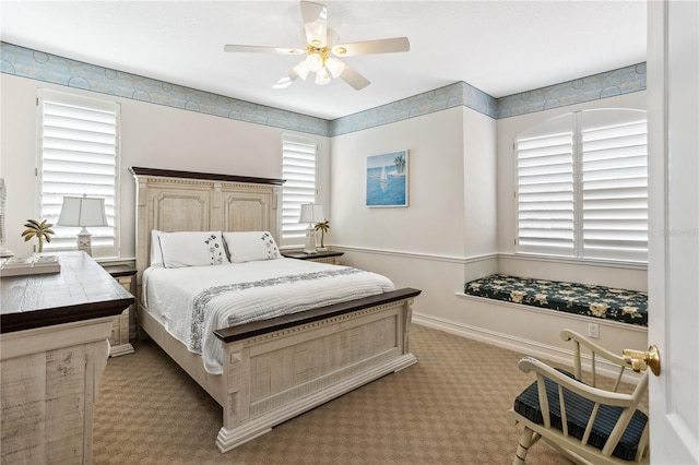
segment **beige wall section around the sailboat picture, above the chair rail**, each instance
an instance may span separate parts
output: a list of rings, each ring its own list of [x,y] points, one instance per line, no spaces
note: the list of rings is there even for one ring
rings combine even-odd
[[[333,243],[370,249],[463,253],[461,109],[333,138]],[[368,155],[407,148],[410,207],[365,206]]]

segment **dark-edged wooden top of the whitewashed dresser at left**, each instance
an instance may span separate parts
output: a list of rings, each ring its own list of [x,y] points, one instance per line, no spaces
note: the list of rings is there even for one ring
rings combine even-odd
[[[85,252],[57,252],[61,272],[0,278],[0,333],[120,314],[134,298]]]

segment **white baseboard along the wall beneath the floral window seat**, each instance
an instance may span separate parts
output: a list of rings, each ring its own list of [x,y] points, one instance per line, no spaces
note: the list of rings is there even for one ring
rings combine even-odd
[[[434,330],[443,331],[449,334],[454,334],[461,337],[478,341],[485,344],[490,344],[497,347],[501,347],[508,350],[516,351],[522,356],[531,356],[547,360],[554,363],[560,363],[571,367],[573,359],[572,347],[570,350],[561,349],[546,344],[541,344],[535,341],[523,339],[509,334],[498,333],[483,327],[476,327],[469,324],[445,320],[438,317],[433,317],[424,313],[414,312],[413,323],[422,326],[431,327]],[[590,357],[583,355],[583,369],[590,369]],[[604,360],[597,360],[596,372],[600,375],[616,379],[618,375],[618,368]],[[629,383],[637,383],[639,377],[636,373],[625,374],[623,381]]]

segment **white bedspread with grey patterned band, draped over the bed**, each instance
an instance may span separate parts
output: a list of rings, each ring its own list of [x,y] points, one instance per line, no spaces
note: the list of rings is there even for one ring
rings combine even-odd
[[[150,267],[143,299],[153,314],[208,372],[223,372],[214,330],[393,290],[386,276],[294,259],[218,266]]]

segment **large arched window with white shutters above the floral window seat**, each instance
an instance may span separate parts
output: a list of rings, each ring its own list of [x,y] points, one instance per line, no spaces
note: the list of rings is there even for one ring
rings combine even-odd
[[[516,153],[519,252],[648,260],[645,111],[564,115]]]

